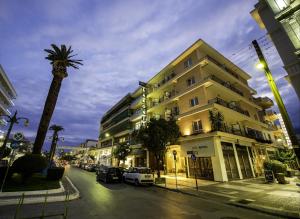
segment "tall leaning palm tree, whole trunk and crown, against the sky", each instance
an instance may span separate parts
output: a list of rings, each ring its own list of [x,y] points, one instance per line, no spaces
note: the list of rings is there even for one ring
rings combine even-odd
[[[72,55],[73,50],[71,49],[71,46],[68,49],[65,45],[61,45],[61,48],[58,48],[54,44],[51,44],[51,46],[53,50],[45,49],[45,52],[48,53],[46,59],[50,60],[50,64],[52,65],[53,80],[51,82],[37,135],[33,145],[32,153],[34,154],[41,153],[49,123],[56,105],[61,82],[65,77],[68,76],[67,67],[78,69],[78,65],[82,65],[82,60],[71,59],[75,56]]]

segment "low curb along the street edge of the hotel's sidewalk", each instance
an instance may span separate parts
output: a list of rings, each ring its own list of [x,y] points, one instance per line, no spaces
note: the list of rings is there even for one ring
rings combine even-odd
[[[153,184],[153,185],[156,186],[157,188],[161,188],[161,189],[164,189],[164,190],[177,192],[177,193],[181,193],[181,194],[184,194],[184,195],[189,195],[189,196],[193,196],[193,197],[197,197],[197,198],[201,198],[201,199],[203,198],[203,197],[201,197],[197,194],[184,192],[184,191],[180,191],[180,190],[176,190],[176,189],[171,189],[171,188],[167,188],[167,187],[159,186],[159,185],[155,185],[155,184]],[[204,191],[204,190],[199,190],[199,191],[209,193],[208,191]],[[217,194],[214,193],[214,195],[217,195]],[[205,200],[207,200],[207,199],[205,199]],[[225,203],[223,202],[223,204],[232,205],[232,206],[245,208],[245,209],[249,209],[249,210],[254,210],[254,211],[259,211],[261,213],[265,213],[265,214],[269,214],[269,215],[273,215],[273,216],[281,216],[281,217],[292,218],[292,219],[299,219],[300,218],[300,212],[297,212],[297,211],[280,211],[280,210],[278,210],[278,208],[262,207],[262,206],[255,205],[255,204],[243,205],[243,204],[236,203],[234,201],[225,202]]]

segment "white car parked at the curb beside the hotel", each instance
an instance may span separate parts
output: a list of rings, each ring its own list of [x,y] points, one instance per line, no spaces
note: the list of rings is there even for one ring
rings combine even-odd
[[[151,169],[147,167],[130,167],[128,171],[123,174],[124,182],[140,184],[153,184],[153,175]]]

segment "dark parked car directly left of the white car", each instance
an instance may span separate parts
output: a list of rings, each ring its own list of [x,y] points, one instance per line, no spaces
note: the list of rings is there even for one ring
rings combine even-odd
[[[100,166],[96,171],[96,180],[109,182],[122,182],[122,174],[118,167]]]

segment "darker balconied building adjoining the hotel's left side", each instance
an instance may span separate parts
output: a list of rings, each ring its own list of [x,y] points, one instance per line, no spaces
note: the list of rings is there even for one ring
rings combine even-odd
[[[118,103],[116,103],[110,110],[108,110],[100,122],[100,136],[99,136],[99,156],[98,163],[103,165],[116,165],[117,160],[113,157],[113,150],[119,144],[131,144],[131,154],[127,157],[125,163],[129,166],[147,166],[146,151],[141,145],[135,145],[131,134],[132,127],[132,109],[131,106],[133,97],[127,94]]]

